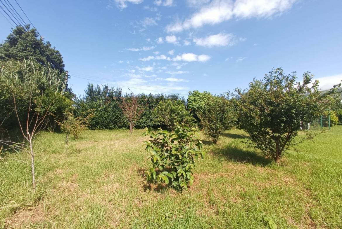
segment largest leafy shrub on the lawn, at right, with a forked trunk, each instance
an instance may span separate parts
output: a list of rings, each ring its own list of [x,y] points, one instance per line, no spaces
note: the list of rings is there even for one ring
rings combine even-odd
[[[248,90],[237,90],[241,128],[249,134],[254,147],[276,162],[295,144],[301,121],[308,123],[317,117],[337,89],[321,94],[313,77],[306,72],[302,83],[296,83],[295,72],[285,75],[277,68],[263,80],[254,79]]]

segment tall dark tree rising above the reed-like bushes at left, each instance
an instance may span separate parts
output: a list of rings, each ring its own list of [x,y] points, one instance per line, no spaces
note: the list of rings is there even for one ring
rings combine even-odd
[[[49,41],[45,44],[36,29],[30,29],[29,25],[26,28],[17,26],[0,44],[0,59],[8,61],[29,58],[40,65],[50,62],[53,68],[64,71],[62,54]]]

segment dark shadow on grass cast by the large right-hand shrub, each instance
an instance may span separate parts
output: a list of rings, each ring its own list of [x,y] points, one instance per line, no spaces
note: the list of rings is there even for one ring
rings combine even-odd
[[[218,157],[224,157],[225,159],[239,162],[239,163],[251,163],[253,166],[265,167],[272,163],[272,160],[265,158],[258,154],[253,149],[239,148],[233,144],[228,144],[223,148],[214,148],[212,151],[213,155]]]

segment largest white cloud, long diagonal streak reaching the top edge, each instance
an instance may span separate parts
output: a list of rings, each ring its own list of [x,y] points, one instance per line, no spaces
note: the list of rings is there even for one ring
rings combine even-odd
[[[176,21],[166,27],[167,32],[180,32],[185,29],[199,28],[204,25],[222,23],[233,17],[270,17],[291,8],[298,0],[213,0],[183,22]]]

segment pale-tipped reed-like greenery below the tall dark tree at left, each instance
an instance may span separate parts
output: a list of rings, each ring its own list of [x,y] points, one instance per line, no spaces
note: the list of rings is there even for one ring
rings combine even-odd
[[[34,85],[34,90],[32,90]],[[0,60],[0,124],[2,128],[18,128],[18,119],[14,112],[15,96],[17,114],[20,121],[25,121],[27,111],[35,114],[41,106],[41,112],[49,110],[44,124],[53,129],[58,118],[63,117],[65,109],[71,106],[67,97],[66,74],[53,69],[51,65],[41,66],[33,59],[22,61]],[[41,98],[42,104],[40,104]],[[29,106],[32,99],[32,106]],[[44,125],[45,127],[45,125]]]

